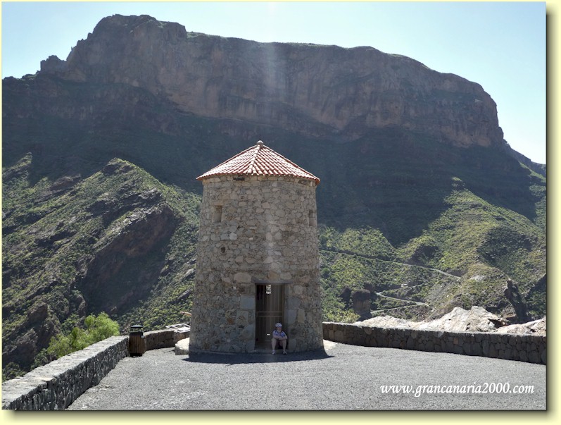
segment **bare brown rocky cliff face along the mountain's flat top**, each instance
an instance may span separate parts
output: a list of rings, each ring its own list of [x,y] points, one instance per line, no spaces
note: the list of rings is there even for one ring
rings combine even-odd
[[[263,44],[187,32],[150,16],[105,18],[67,61],[42,73],[125,83],[184,112],[354,140],[400,127],[458,146],[500,146],[496,104],[481,86],[372,47]]]

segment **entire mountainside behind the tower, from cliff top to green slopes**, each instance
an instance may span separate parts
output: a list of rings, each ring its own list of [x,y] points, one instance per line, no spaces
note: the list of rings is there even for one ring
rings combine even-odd
[[[4,378],[86,314],[182,321],[195,178],[258,138],[322,180],[325,319],[545,315],[545,166],[510,149],[474,82],[149,16],[105,18],[41,68],[2,82]]]

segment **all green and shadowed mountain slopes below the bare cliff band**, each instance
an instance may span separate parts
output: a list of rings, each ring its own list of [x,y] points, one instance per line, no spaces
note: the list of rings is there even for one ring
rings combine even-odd
[[[261,133],[322,180],[325,320],[354,321],[348,291],[365,288],[372,310],[392,315],[474,304],[508,315],[506,278],[545,314],[546,180],[500,149],[400,128],[320,139],[179,113],[122,84],[37,75],[3,87],[3,358],[14,370],[87,314],[108,312],[122,332],[184,321],[195,178]]]

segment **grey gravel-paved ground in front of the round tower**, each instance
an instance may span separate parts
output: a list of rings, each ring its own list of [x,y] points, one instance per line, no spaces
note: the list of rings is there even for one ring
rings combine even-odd
[[[382,386],[410,386],[410,393]],[[464,393],[451,393],[452,386]],[[517,386],[533,393],[513,393]],[[68,409],[536,410],[546,409],[546,367],[329,341],[324,351],[275,356],[164,348],[122,359]]]

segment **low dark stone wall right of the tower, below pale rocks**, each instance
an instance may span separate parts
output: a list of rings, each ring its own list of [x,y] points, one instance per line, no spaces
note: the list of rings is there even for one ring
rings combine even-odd
[[[514,333],[420,331],[323,323],[323,338],[336,343],[494,357],[546,364],[546,336]]]

